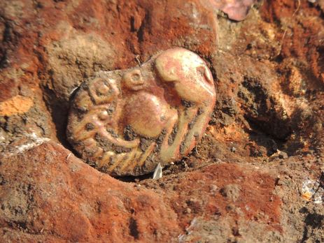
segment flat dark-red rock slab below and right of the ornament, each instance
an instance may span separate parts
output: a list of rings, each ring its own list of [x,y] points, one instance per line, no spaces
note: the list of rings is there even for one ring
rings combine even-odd
[[[223,232],[221,238],[229,239],[235,222],[239,222],[238,228],[245,229],[244,233],[240,231],[239,238],[245,242],[259,237],[255,229],[247,230],[249,223],[258,225],[260,231],[267,228],[264,232],[267,235],[281,234],[281,202],[274,195],[275,179],[269,174],[251,170],[247,165],[218,163],[171,178],[159,179],[164,185],[159,186],[157,192],[163,191],[164,200],[169,201],[178,214],[180,226],[187,231],[189,227],[195,240],[219,239],[218,230]],[[157,185],[153,179],[143,184],[149,188]],[[190,227],[192,221],[196,221],[195,227]],[[210,230],[213,226],[218,230]],[[183,238],[192,239],[190,235]]]

